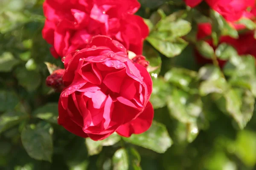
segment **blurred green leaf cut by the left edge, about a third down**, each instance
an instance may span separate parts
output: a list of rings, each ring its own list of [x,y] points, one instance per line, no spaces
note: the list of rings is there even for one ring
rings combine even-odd
[[[0,72],[9,72],[18,65],[20,61],[13,57],[12,53],[4,52],[0,55]]]

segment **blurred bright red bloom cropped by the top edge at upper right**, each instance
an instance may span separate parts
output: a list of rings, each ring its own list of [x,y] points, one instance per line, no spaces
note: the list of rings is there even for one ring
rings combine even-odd
[[[195,7],[203,0],[185,0],[187,6]],[[234,22],[241,17],[250,18],[248,8],[254,8],[255,0],[205,0],[210,8],[221,14],[227,21]],[[255,16],[255,15],[254,15]]]

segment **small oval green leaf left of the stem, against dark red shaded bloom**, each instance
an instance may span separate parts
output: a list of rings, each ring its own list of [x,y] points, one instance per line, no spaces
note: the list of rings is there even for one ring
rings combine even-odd
[[[207,59],[212,59],[212,56],[214,55],[214,49],[211,45],[209,45],[208,42],[205,41],[199,41],[196,44],[196,49],[198,52]]]

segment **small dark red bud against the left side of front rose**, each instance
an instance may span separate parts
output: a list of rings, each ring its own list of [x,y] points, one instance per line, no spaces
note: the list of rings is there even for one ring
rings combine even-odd
[[[61,92],[64,88],[63,81],[62,81],[62,75],[64,73],[64,69],[58,69],[52,72],[51,75],[49,75],[46,78],[46,85],[48,87],[53,88],[57,92]]]

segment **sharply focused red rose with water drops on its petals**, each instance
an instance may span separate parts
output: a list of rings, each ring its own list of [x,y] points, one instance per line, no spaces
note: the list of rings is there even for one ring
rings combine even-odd
[[[68,131],[102,140],[115,131],[129,137],[151,126],[152,79],[119,42],[95,36],[87,48],[68,54],[64,66],[58,123]]]

